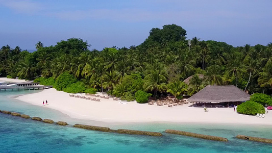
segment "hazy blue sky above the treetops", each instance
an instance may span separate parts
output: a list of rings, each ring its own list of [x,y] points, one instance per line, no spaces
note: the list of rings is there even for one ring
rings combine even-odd
[[[0,0],[0,46],[35,49],[81,38],[90,50],[141,44],[152,28],[177,24],[186,37],[233,46],[272,42],[271,0]]]

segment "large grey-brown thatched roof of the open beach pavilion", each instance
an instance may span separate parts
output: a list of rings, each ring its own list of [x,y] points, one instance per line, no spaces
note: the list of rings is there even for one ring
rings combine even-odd
[[[231,102],[246,101],[250,99],[250,95],[235,86],[207,86],[197,92],[188,101],[191,102]]]

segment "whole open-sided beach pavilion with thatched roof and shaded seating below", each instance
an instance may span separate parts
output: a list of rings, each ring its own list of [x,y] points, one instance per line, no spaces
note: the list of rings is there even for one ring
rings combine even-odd
[[[206,86],[188,98],[193,106],[196,103],[195,106],[197,107],[216,108],[237,106],[246,100],[250,100],[250,95],[235,86]]]

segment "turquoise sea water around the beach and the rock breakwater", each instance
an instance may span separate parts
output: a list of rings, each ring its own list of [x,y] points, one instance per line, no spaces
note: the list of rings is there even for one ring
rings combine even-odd
[[[203,123],[103,123],[78,120],[59,111],[32,106],[10,96],[38,91],[2,91],[0,109],[69,124],[105,125],[111,129],[162,132],[166,129],[226,137],[216,142],[163,133],[162,137],[122,135],[46,124],[0,113],[0,152],[272,152],[272,145],[236,139],[237,134],[272,138],[272,126]],[[50,101],[49,101],[50,102]]]

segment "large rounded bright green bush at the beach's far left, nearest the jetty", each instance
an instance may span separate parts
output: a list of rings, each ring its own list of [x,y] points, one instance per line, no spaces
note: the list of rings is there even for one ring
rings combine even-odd
[[[76,82],[77,79],[73,77],[73,75],[69,74],[68,72],[64,72],[60,74],[59,77],[56,79],[54,88],[56,88],[58,91],[61,91]]]

